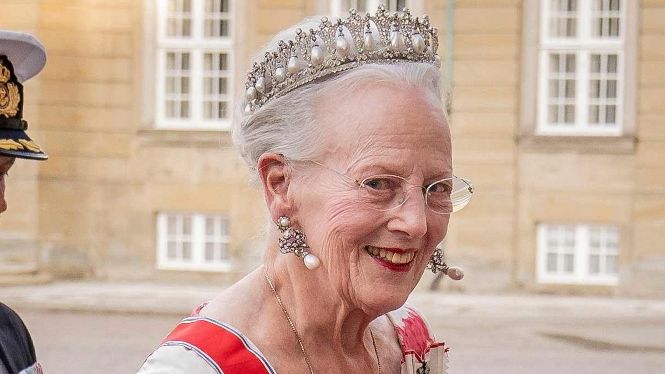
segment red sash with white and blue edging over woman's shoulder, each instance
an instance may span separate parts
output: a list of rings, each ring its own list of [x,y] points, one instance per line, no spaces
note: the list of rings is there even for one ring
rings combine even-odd
[[[185,318],[161,345],[192,350],[220,374],[275,373],[252,342],[233,327],[212,318]]]

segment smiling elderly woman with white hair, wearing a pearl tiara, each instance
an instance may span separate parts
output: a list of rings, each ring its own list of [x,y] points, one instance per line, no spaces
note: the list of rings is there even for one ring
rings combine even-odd
[[[404,306],[428,264],[449,271],[436,246],[472,192],[453,176],[436,30],[383,9],[307,26],[254,64],[234,131],[272,221],[264,264],[141,373],[445,372]]]

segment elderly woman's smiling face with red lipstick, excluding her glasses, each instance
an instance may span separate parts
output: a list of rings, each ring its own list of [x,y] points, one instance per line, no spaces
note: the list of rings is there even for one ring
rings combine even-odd
[[[316,161],[352,179],[379,174],[423,186],[452,176],[450,132],[440,105],[421,89],[367,85],[322,104],[324,156]],[[343,302],[368,314],[401,306],[418,283],[449,216],[429,210],[422,190],[379,211],[359,202],[357,185],[306,164],[295,202],[298,223]],[[406,263],[404,263],[406,262]]]

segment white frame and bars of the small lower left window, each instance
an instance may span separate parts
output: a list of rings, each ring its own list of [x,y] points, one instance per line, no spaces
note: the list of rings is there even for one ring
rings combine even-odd
[[[190,217],[192,233],[190,235],[192,260],[184,261],[182,259],[171,259],[168,257],[168,239],[172,235],[168,232],[169,217]],[[229,218],[225,214],[211,213],[189,213],[189,212],[160,212],[157,214],[157,269],[160,270],[189,270],[189,271],[230,271],[232,269],[229,244],[231,243],[230,234],[216,236],[219,243],[227,246],[228,257],[223,261],[209,262],[205,259],[205,244],[210,237],[206,234],[206,219],[220,218],[229,224]],[[229,227],[226,228],[227,233]],[[175,235],[177,240],[181,240],[180,233]]]

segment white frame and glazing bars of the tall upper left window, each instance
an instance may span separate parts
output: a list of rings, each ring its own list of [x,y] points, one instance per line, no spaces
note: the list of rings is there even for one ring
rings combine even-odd
[[[187,38],[167,37],[166,16],[167,0],[156,2],[157,17],[156,24],[156,66],[155,66],[155,127],[170,130],[229,130],[233,118],[233,94],[234,94],[234,22],[235,1],[229,0],[229,36],[224,38],[206,38],[204,36],[205,26],[205,0],[191,0],[192,19],[191,35]],[[165,79],[166,76],[166,54],[167,52],[189,52],[190,53],[190,116],[187,119],[168,118],[165,115]],[[203,55],[206,52],[225,53],[227,55],[227,102],[226,119],[205,119],[203,116]]]

